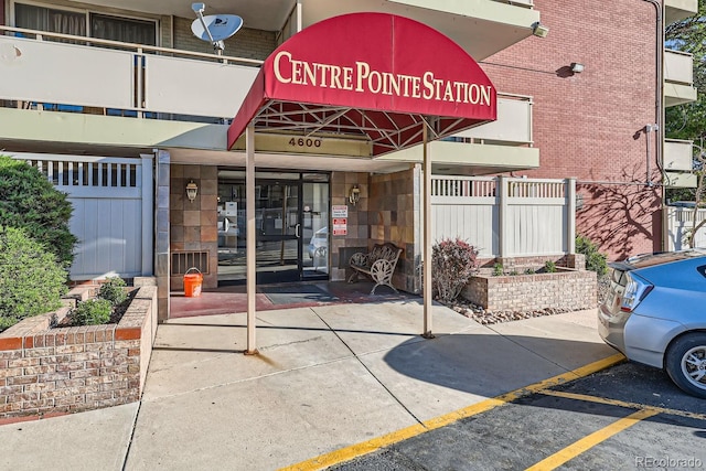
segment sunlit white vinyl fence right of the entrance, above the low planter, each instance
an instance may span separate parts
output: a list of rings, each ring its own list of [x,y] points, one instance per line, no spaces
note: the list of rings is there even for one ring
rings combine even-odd
[[[431,178],[434,240],[456,238],[483,258],[575,253],[576,180]]]

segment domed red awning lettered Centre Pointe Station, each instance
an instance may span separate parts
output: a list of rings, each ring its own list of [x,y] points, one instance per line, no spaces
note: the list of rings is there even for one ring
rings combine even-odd
[[[228,149],[256,132],[350,137],[377,157],[495,120],[496,92],[475,61],[438,31],[386,13],[307,28],[263,64],[228,129]]]

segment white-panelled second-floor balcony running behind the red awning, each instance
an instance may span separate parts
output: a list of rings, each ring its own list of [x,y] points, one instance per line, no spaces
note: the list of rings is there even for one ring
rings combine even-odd
[[[29,36],[39,32],[21,32],[28,38],[0,35],[0,148],[32,142],[35,151],[63,146],[92,152],[157,147],[224,153],[226,124],[259,69],[253,60],[50,33],[38,40]],[[92,45],[46,41],[51,36]],[[499,121],[439,143],[446,150],[435,160],[454,167],[486,168],[496,161],[536,167],[532,99],[501,94],[498,109]]]

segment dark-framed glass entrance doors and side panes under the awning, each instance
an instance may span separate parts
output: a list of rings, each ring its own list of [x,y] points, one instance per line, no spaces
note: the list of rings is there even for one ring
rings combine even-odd
[[[218,283],[246,280],[245,179],[218,172]],[[328,279],[329,175],[256,173],[257,282]]]

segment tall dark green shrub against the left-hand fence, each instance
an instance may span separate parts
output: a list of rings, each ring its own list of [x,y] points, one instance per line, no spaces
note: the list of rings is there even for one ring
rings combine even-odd
[[[0,156],[0,225],[24,229],[54,253],[65,268],[73,261],[76,245],[68,228],[72,211],[66,194],[38,169]]]

